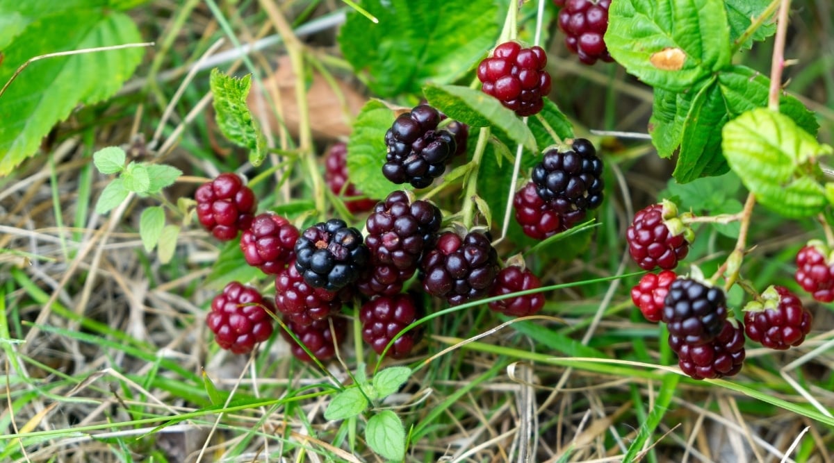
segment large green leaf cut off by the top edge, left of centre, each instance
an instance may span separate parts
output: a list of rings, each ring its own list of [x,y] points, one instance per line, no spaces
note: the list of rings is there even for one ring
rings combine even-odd
[[[450,83],[475,67],[498,37],[496,2],[363,2],[374,24],[349,12],[339,47],[380,97],[418,93],[426,82]]]

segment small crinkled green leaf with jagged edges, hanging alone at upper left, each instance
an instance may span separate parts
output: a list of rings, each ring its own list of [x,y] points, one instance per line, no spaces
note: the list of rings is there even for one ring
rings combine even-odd
[[[208,78],[208,86],[214,93],[212,105],[220,132],[239,147],[249,148],[249,162],[258,167],[266,158],[266,143],[264,133],[246,104],[251,79],[251,74],[241,78],[230,77],[215,67]]]

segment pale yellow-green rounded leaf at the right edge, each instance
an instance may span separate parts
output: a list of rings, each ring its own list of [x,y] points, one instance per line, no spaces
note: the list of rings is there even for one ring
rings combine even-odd
[[[828,203],[816,157],[831,154],[808,132],[766,108],[746,112],[723,130],[727,162],[756,199],[782,216],[810,217]]]

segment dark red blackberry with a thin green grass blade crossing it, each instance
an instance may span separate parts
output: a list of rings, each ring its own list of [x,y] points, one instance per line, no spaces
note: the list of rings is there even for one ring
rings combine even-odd
[[[518,291],[527,291],[541,287],[541,281],[530,270],[520,266],[506,266],[495,276],[495,283],[490,289],[490,297],[504,296]],[[524,296],[509,297],[488,304],[490,309],[509,316],[530,316],[545,306],[545,296],[540,292]]]

